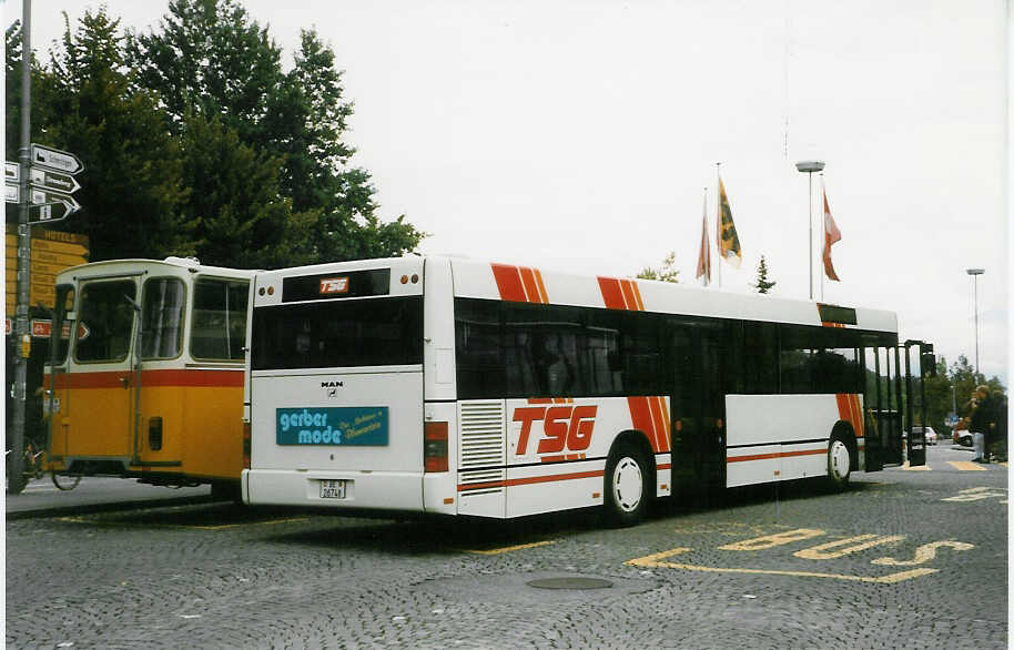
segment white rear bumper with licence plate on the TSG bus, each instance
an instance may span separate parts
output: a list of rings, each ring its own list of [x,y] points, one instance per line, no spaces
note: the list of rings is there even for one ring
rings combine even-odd
[[[422,473],[244,469],[243,502],[368,510],[423,510]]]

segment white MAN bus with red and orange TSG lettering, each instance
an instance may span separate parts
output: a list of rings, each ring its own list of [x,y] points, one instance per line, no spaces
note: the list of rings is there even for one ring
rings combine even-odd
[[[444,257],[253,294],[247,504],[627,524],[685,487],[903,460],[892,313]]]

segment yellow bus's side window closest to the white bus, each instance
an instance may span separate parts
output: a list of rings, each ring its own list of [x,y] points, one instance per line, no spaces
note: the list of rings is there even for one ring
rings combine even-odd
[[[194,283],[191,356],[195,359],[243,360],[249,298],[249,281],[199,278]]]

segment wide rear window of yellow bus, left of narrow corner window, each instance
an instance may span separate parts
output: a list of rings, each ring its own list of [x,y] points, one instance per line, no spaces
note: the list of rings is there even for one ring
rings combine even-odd
[[[130,352],[136,287],[133,281],[94,282],[81,291],[74,358],[122,362]]]

